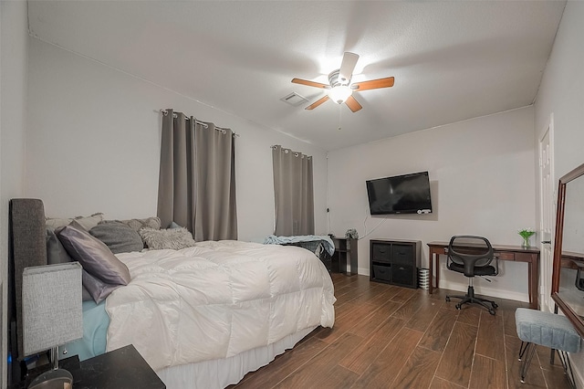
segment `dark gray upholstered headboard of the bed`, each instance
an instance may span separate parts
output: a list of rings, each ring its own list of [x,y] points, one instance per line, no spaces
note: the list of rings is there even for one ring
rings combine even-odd
[[[47,231],[43,202],[15,198],[9,205],[8,228],[8,352],[13,380],[20,375],[22,352],[22,273],[24,268],[47,265]]]

